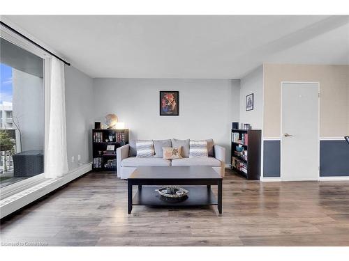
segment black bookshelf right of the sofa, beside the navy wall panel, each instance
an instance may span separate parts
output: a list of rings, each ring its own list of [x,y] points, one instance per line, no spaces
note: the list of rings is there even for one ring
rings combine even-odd
[[[230,136],[232,169],[237,173],[244,175],[247,180],[260,180],[261,130],[232,129]],[[244,148],[245,152],[242,154],[236,150],[236,147],[239,145],[242,145]]]

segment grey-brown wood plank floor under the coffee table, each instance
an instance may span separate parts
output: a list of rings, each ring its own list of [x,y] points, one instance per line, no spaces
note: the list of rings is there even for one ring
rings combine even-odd
[[[2,245],[349,246],[349,182],[262,183],[226,171],[222,216],[216,207],[144,206],[128,215],[126,181],[88,173],[2,221],[0,232]]]

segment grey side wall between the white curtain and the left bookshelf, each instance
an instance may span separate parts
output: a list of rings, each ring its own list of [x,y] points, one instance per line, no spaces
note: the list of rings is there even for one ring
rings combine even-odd
[[[65,67],[66,132],[69,171],[92,161],[91,129],[94,127],[93,79],[73,66]],[[71,162],[71,157],[75,162]]]

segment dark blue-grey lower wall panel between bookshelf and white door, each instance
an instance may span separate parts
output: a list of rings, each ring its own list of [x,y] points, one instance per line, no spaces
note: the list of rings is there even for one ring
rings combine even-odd
[[[280,177],[280,141],[264,141],[263,177]]]

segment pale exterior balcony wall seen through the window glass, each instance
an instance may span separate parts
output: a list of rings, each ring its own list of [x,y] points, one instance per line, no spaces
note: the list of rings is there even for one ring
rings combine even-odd
[[[12,75],[13,120],[22,132],[22,151],[43,150],[45,143],[43,78],[14,68]],[[20,148],[20,145],[17,148]]]

